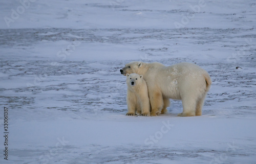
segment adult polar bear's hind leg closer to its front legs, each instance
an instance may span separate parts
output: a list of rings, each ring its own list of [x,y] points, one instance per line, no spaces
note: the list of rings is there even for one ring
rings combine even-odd
[[[178,116],[195,116],[197,100],[191,97],[182,98],[183,112]]]

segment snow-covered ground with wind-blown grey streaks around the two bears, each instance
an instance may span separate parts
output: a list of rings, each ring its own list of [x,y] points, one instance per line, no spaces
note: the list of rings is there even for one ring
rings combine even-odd
[[[255,9],[253,0],[1,1],[0,163],[255,163]],[[125,116],[119,69],[131,61],[206,69],[203,115],[177,117],[172,100],[167,114]]]

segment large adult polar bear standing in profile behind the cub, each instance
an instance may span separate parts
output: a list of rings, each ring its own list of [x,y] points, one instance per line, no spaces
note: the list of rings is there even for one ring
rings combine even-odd
[[[211,85],[209,74],[193,63],[164,66],[161,63],[131,62],[120,69],[121,74],[143,75],[151,103],[151,116],[168,106],[168,99],[182,101],[178,116],[202,115],[204,99]]]

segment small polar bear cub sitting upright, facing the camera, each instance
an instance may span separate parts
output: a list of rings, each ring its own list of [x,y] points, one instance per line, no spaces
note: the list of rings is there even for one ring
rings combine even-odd
[[[150,116],[150,98],[142,75],[126,74],[128,112],[126,115]]]

